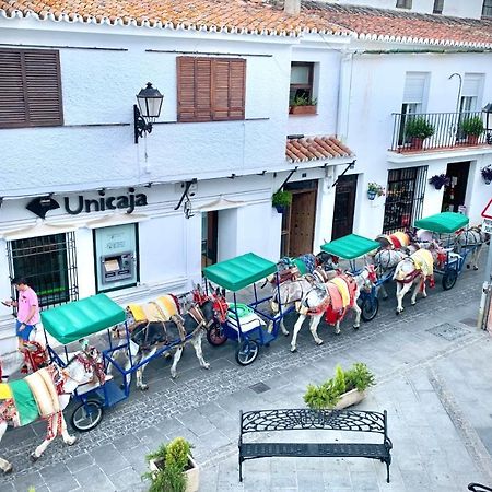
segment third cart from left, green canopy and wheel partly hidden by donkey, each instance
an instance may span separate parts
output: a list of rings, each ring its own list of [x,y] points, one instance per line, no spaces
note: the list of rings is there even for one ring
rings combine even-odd
[[[339,239],[331,241],[321,246],[325,253],[349,261],[349,272],[356,276],[361,272],[356,260],[363,258],[367,253],[379,248],[379,243],[358,234],[349,234]],[[379,309],[379,301],[377,298],[377,286],[387,280],[378,279],[375,284],[371,283],[366,289],[361,289],[359,296],[359,305],[361,307],[361,316],[364,321],[371,321],[377,315]]]

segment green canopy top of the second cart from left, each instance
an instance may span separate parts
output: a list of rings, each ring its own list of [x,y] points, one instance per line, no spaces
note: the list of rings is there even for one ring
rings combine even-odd
[[[237,256],[203,269],[206,279],[230,291],[239,291],[277,271],[277,265],[254,253]]]

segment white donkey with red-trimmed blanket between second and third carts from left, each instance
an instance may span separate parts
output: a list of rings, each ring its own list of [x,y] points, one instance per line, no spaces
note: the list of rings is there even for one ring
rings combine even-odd
[[[344,279],[342,280],[342,278]],[[350,276],[347,273],[339,274],[326,283],[317,283],[303,296],[297,307],[298,319],[294,325],[291,352],[297,351],[297,335],[307,316],[311,317],[309,330],[313,335],[315,343],[318,345],[323,344],[323,340],[318,337],[317,329],[319,321],[325,314],[327,314],[327,317],[328,314],[333,314],[330,313],[330,309],[335,307],[331,296],[338,292],[339,282],[337,280],[342,280],[342,282],[348,283],[350,301],[345,304],[343,313],[335,313],[335,317],[330,316],[330,323],[336,326],[335,332],[337,335],[340,333],[340,321],[343,319],[347,309],[353,309],[355,312],[353,327],[359,328],[361,325],[361,308],[358,306],[358,298],[363,286],[368,286],[377,280],[376,271],[373,265],[364,267],[358,276]]]

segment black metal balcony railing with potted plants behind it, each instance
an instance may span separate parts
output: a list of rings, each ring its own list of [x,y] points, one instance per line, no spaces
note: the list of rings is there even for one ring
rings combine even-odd
[[[434,149],[464,149],[473,145],[491,144],[491,136],[484,130],[480,136],[473,137],[465,132],[464,122],[471,118],[483,121],[482,112],[461,113],[393,113],[394,129],[390,150],[394,152],[422,152]],[[413,136],[411,127],[420,126],[431,128],[433,134],[419,139]],[[485,126],[485,125],[483,125]],[[413,128],[414,129],[414,128]],[[425,130],[425,128],[424,128]]]

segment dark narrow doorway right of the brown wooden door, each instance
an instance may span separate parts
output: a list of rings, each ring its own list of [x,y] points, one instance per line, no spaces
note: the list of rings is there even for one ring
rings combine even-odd
[[[339,176],[335,191],[331,241],[352,233],[358,175]]]

